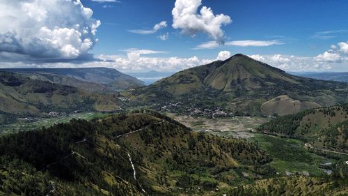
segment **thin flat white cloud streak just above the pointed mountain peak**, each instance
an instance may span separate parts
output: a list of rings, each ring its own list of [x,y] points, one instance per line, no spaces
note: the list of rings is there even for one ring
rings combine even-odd
[[[242,46],[242,47],[247,47],[247,46],[254,46],[254,47],[264,47],[264,46],[269,46],[269,45],[282,45],[278,40],[235,40],[235,41],[229,41],[226,42],[225,45],[234,45],[234,46]],[[209,41],[202,43],[193,49],[212,49],[219,47],[219,43],[216,41]]]

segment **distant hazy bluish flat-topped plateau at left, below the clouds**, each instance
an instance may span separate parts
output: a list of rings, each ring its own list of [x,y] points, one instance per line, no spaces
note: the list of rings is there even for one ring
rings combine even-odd
[[[90,92],[113,92],[143,86],[141,80],[112,68],[7,68],[35,80],[74,86]]]

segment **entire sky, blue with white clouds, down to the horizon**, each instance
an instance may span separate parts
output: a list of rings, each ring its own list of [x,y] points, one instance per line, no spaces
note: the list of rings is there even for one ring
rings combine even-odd
[[[346,0],[0,0],[0,68],[173,72],[242,53],[286,71],[348,71],[347,10]]]

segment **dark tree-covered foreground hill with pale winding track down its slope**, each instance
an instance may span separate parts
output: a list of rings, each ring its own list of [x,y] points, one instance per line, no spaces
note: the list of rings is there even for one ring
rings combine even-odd
[[[269,161],[245,140],[134,111],[1,136],[0,195],[212,195]]]

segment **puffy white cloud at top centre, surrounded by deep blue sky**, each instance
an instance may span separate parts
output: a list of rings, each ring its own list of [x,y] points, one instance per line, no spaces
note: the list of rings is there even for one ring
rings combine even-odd
[[[172,10],[173,28],[181,29],[182,33],[196,36],[197,33],[207,33],[219,43],[224,43],[221,26],[232,22],[228,15],[214,15],[212,8],[203,6],[197,13],[201,0],[176,0]]]

